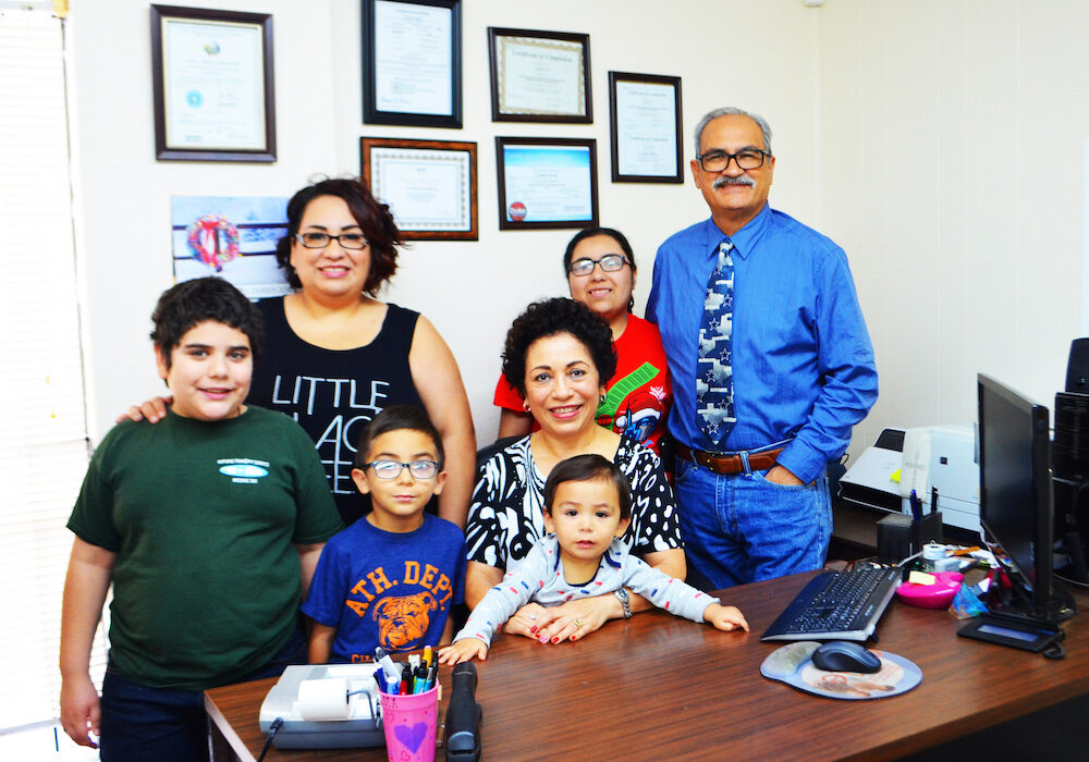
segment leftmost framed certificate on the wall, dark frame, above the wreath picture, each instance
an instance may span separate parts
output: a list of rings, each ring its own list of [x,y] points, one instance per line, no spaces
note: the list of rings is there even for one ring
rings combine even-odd
[[[151,5],[155,155],[276,161],[272,16]]]

